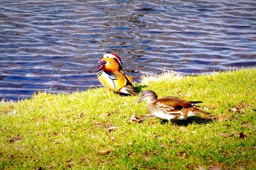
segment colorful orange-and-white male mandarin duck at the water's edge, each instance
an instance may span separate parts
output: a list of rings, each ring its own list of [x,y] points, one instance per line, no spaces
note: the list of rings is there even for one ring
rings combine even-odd
[[[131,76],[125,75],[122,71],[123,63],[115,52],[104,53],[103,59],[100,59],[99,63],[97,76],[102,85],[114,92],[131,96],[138,94],[132,86]]]

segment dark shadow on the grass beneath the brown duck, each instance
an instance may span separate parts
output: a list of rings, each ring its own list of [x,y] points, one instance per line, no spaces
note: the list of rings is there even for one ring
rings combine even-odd
[[[168,122],[168,120],[162,120],[161,124]],[[189,117],[186,120],[170,120],[170,122],[176,125],[188,126],[189,124],[210,124],[213,120],[211,118]]]

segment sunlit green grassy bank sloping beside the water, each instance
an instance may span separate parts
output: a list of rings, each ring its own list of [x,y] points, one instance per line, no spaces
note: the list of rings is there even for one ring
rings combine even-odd
[[[0,104],[0,169],[256,169],[256,69],[144,82],[211,119],[144,118],[145,102],[105,88],[40,92]]]

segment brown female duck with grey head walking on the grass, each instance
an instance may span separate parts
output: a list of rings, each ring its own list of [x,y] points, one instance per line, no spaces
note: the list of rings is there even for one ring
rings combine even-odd
[[[184,101],[177,97],[163,97],[157,99],[157,94],[152,90],[145,90],[141,93],[140,100],[147,101],[147,108],[155,117],[171,120],[183,120],[188,117],[193,117],[197,114],[210,114],[206,111],[195,108],[196,103],[200,101]]]

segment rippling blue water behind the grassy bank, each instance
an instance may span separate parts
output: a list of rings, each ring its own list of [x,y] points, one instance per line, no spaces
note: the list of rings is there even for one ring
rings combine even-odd
[[[256,1],[0,1],[0,98],[100,87],[107,51],[125,73],[256,66]]]

